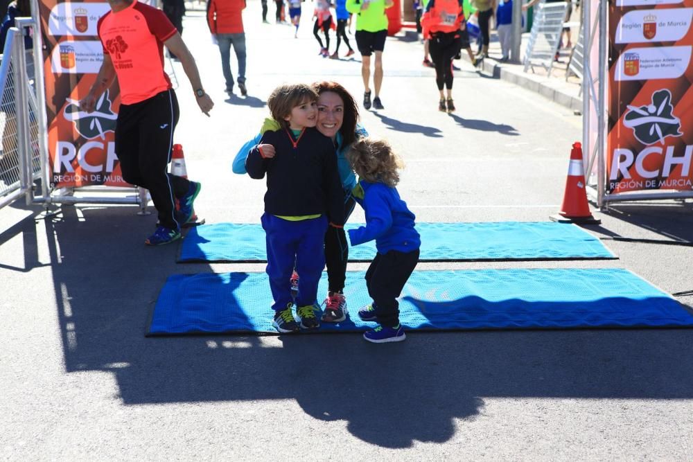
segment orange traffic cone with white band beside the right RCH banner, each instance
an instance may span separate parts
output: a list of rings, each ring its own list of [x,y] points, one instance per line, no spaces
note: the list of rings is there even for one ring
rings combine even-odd
[[[568,179],[565,180],[563,205],[559,214],[552,215],[550,218],[554,222],[561,223],[599,224],[602,222],[602,220],[592,216],[590,206],[587,203],[581,143],[573,143],[572,145]]]

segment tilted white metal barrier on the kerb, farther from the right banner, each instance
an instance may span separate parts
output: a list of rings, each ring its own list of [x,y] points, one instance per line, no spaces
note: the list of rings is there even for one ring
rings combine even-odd
[[[529,36],[527,51],[525,51],[525,72],[534,66],[542,66],[551,75],[554,65],[554,57],[559,51],[561,33],[565,12],[568,11],[568,3],[563,1],[556,3],[539,3],[532,35]]]

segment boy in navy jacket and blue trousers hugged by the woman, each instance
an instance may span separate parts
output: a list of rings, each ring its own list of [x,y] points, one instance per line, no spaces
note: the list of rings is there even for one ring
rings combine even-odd
[[[267,276],[274,303],[272,325],[279,332],[315,329],[317,285],[325,267],[324,237],[329,226],[344,226],[344,191],[332,141],[315,129],[317,93],[308,85],[281,85],[267,99],[272,118],[282,127],[265,132],[250,150],[245,168],[250,177],[267,175],[265,213]],[[295,300],[290,277],[299,278]]]

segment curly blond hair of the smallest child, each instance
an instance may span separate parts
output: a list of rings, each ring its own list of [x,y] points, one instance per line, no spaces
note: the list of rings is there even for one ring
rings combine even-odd
[[[347,159],[360,179],[369,183],[385,183],[390,187],[399,183],[397,170],[404,166],[387,141],[369,137],[354,141],[347,152]]]

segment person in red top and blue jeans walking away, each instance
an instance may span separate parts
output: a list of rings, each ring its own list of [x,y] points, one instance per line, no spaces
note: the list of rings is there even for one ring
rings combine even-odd
[[[238,59],[238,89],[240,94],[248,94],[245,89],[245,32],[243,31],[243,16],[245,0],[209,0],[207,2],[207,25],[209,31],[216,37],[221,53],[221,70],[226,80],[226,92],[234,94],[234,74],[231,73],[229,59],[231,45],[234,46]]]

